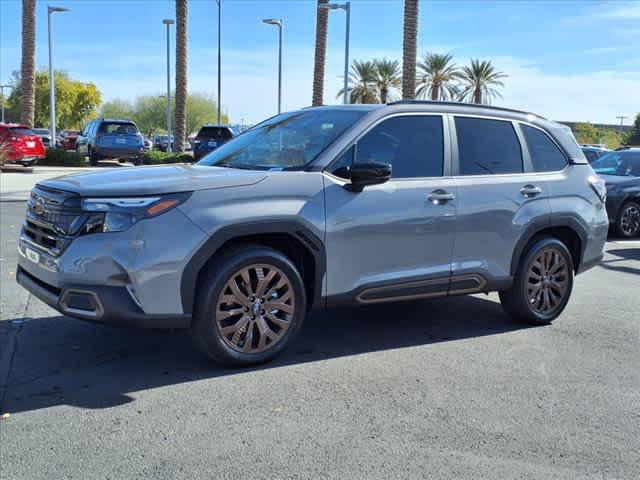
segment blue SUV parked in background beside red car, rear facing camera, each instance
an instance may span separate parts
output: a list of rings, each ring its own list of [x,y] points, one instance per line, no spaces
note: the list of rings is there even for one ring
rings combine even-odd
[[[76,151],[87,155],[91,165],[102,158],[133,160],[140,163],[144,141],[138,127],[130,120],[92,120],[77,140]]]

